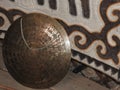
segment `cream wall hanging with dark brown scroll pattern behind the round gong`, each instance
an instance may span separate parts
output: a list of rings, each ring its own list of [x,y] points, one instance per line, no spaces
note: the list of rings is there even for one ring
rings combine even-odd
[[[87,64],[118,80],[120,69],[120,0],[4,0],[0,3],[0,38],[16,18],[31,12],[57,19],[66,29],[71,48],[84,54]],[[73,58],[76,58],[72,55]],[[94,59],[98,64],[93,65]],[[81,58],[76,60],[82,62]],[[83,63],[83,62],[82,62]],[[117,72],[113,75],[112,72]]]

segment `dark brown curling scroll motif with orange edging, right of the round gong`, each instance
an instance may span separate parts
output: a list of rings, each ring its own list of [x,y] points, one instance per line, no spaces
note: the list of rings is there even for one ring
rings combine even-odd
[[[107,10],[111,5],[115,5],[120,3],[120,0],[103,0],[100,4],[100,15],[105,23],[104,27],[102,28],[101,32],[88,32],[84,26],[81,25],[71,25],[67,26],[65,23],[62,22],[68,34],[80,32],[86,38],[86,42],[81,44],[81,40],[83,37],[81,35],[76,35],[74,37],[75,45],[80,50],[88,49],[94,41],[101,41],[104,43],[103,45],[96,46],[96,53],[100,58],[112,59],[115,64],[119,64],[120,60],[120,9],[115,9],[112,11],[112,14],[117,17],[116,21],[110,21],[107,15]],[[114,30],[116,28],[116,30]],[[114,31],[113,31],[114,30]],[[110,34],[111,33],[111,34]],[[108,38],[110,37],[110,38]],[[110,45],[110,39],[115,43],[115,45]],[[105,50],[104,50],[105,49]]]

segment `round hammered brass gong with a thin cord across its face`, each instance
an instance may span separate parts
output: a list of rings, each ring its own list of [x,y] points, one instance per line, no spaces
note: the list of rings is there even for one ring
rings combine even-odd
[[[71,48],[65,29],[44,14],[27,14],[8,29],[3,57],[8,72],[31,88],[48,88],[67,73]]]

